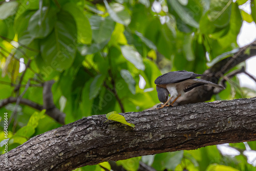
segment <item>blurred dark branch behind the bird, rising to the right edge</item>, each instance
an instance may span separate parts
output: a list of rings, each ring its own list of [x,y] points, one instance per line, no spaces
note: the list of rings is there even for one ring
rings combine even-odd
[[[202,76],[201,78],[218,84],[220,78],[230,69],[255,55],[256,41],[253,41],[251,44],[240,48],[240,50],[233,56],[229,56],[215,63],[214,66],[203,73],[207,76]],[[200,86],[185,93],[183,97],[176,100],[175,105],[207,101],[211,99],[212,95],[219,92],[219,90],[215,90],[215,88],[212,87]]]

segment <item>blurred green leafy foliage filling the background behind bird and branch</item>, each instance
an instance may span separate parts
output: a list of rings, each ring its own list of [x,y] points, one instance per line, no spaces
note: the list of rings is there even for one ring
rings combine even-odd
[[[256,21],[254,1],[251,14],[239,8],[248,2],[1,1],[0,99],[22,95],[42,105],[42,84],[54,79],[54,103],[66,114],[65,123],[112,111],[151,108],[159,103],[154,84],[159,75],[177,70],[203,73],[237,51],[242,23]],[[22,58],[24,62],[20,63]],[[20,65],[29,60],[27,69],[19,72]],[[233,70],[241,66],[245,63]],[[146,82],[143,88],[139,87],[142,80]],[[18,84],[22,87],[15,91]],[[227,82],[226,90],[212,100],[252,96],[255,92],[240,88],[239,80],[234,77]],[[27,105],[8,104],[0,109],[0,116],[6,112],[10,121],[9,150],[32,136],[61,126],[44,111],[36,112]],[[3,139],[1,130],[0,140]],[[255,142],[248,144],[256,150]],[[3,141],[0,146],[3,154]],[[224,156],[216,146],[207,146],[116,164],[126,170],[137,170],[139,161],[156,170],[256,170],[243,155],[246,149],[243,143],[231,146],[241,154]],[[102,167],[110,168],[109,163],[103,163],[77,170],[102,170]]]

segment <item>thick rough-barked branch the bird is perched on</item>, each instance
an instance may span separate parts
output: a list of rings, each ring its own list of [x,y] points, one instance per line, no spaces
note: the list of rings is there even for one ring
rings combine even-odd
[[[31,138],[0,170],[72,170],[136,156],[256,140],[256,97],[122,114],[135,129],[90,116]]]

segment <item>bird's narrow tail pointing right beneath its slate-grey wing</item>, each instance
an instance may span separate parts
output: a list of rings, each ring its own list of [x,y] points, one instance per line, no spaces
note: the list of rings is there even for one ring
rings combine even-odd
[[[210,82],[210,81],[206,81],[203,79],[199,79],[199,78],[193,78],[193,79],[187,79],[185,81],[182,82],[183,86],[184,86],[184,92],[188,92],[196,87],[199,86],[211,86],[211,87],[216,87],[219,89],[225,89],[223,86],[220,86],[216,83]]]

